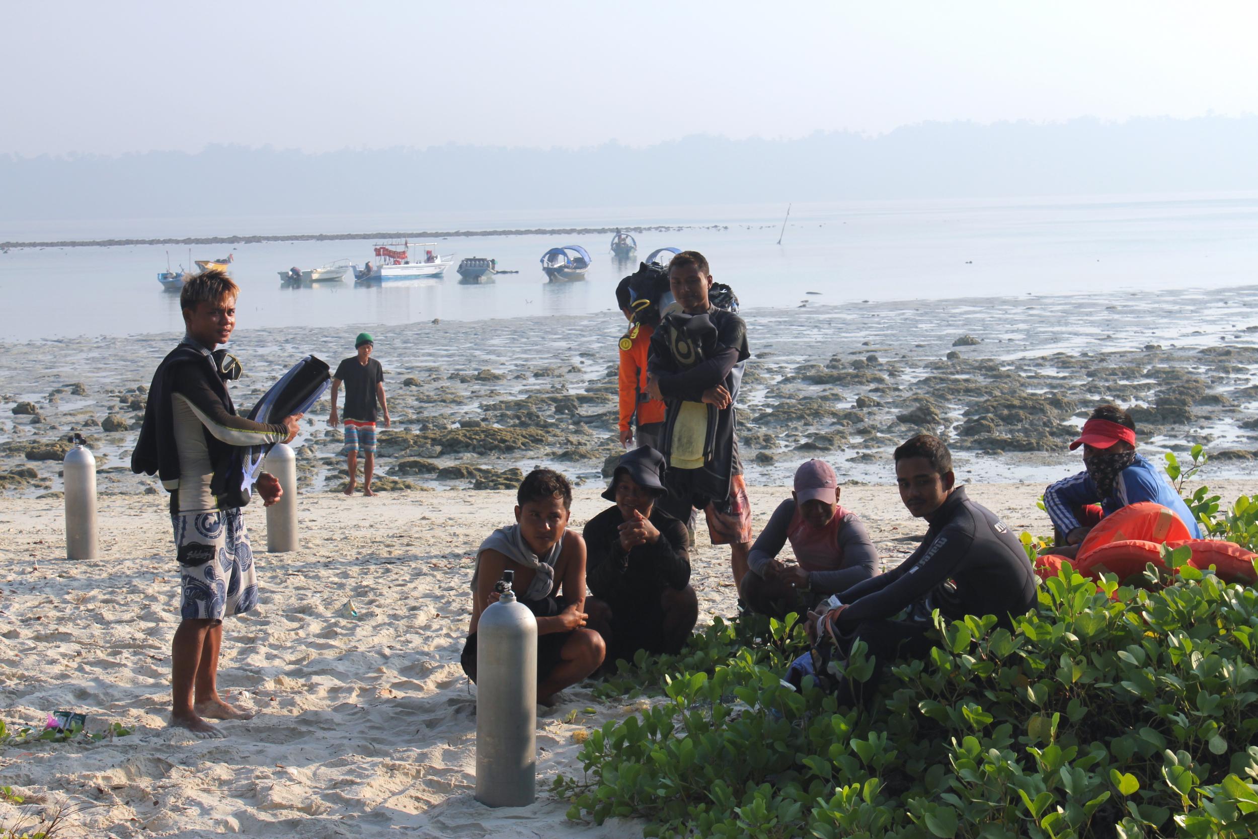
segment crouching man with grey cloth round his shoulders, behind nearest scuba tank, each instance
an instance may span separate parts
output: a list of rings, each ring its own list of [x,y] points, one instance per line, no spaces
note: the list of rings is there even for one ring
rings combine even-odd
[[[603,638],[585,629],[585,541],[567,530],[572,486],[551,469],[535,469],[516,491],[516,523],[499,527],[477,551],[472,624],[459,663],[476,682],[476,628],[498,601],[493,586],[515,571],[512,590],[537,616],[537,701],[576,684],[603,664]],[[562,594],[559,594],[562,589]]]

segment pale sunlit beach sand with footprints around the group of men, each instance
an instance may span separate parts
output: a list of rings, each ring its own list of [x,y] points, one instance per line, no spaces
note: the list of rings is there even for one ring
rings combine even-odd
[[[970,494],[1015,532],[1043,533],[1042,489],[993,484]],[[757,531],[784,497],[752,487]],[[843,502],[889,565],[925,531],[893,487],[849,487]],[[112,742],[5,747],[0,785],[34,803],[62,791],[92,804],[77,819],[92,836],[640,835],[633,821],[569,823],[567,804],[547,791],[521,810],[472,797],[476,694],[458,663],[470,555],[513,503],[506,492],[308,496],[304,545],[289,555],[264,552],[265,513],[249,508],[262,604],[226,621],[219,684],[259,713],[220,723],[224,740],[203,741],[166,727],[179,623],[166,497],[103,497],[96,562],[63,558],[59,501],[5,499],[0,718],[33,725],[75,708],[89,714],[89,730],[117,721],[136,731]],[[580,489],[574,526],[604,506],[596,489]],[[699,623],[731,615],[727,550],[703,545],[693,565]],[[342,615],[350,600],[359,618]],[[582,712],[590,706],[596,714]],[[564,722],[572,711],[576,720]],[[556,772],[580,772],[574,732],[632,711],[582,687],[561,694],[538,718],[538,789]],[[15,814],[0,803],[0,825]]]

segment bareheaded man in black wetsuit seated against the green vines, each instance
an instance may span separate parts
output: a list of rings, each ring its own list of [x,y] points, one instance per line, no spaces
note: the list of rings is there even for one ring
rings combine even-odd
[[[815,628],[821,648],[833,640],[837,654],[847,655],[860,639],[874,659],[863,686],[840,683],[840,703],[868,706],[888,662],[930,654],[932,610],[950,620],[995,615],[998,625],[1009,628],[1014,615],[1035,604],[1035,575],[1021,543],[955,481],[952,454],[937,436],[918,434],[896,449],[899,498],[930,525],[926,538],[892,571],[839,595],[840,605],[809,613],[810,634]]]

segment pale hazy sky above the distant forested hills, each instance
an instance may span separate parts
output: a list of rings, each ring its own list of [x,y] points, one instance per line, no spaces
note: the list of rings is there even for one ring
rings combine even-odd
[[[1258,4],[0,3],[0,152],[1258,113]]]

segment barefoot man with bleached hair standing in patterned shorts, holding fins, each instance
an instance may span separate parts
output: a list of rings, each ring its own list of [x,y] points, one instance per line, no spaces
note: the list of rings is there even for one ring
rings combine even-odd
[[[221,737],[210,720],[249,720],[219,696],[216,677],[223,619],[258,604],[258,577],[242,507],[249,489],[238,447],[288,443],[299,414],[265,424],[238,416],[228,382],[240,364],[225,350],[235,328],[239,288],[220,269],[184,284],[180,307],[187,332],[153,374],[145,421],[131,455],[132,472],[161,477],[170,491],[180,567],[180,624],[171,644],[170,723],[206,737]],[[263,504],[279,501],[279,482],[263,472],[257,483]]]

